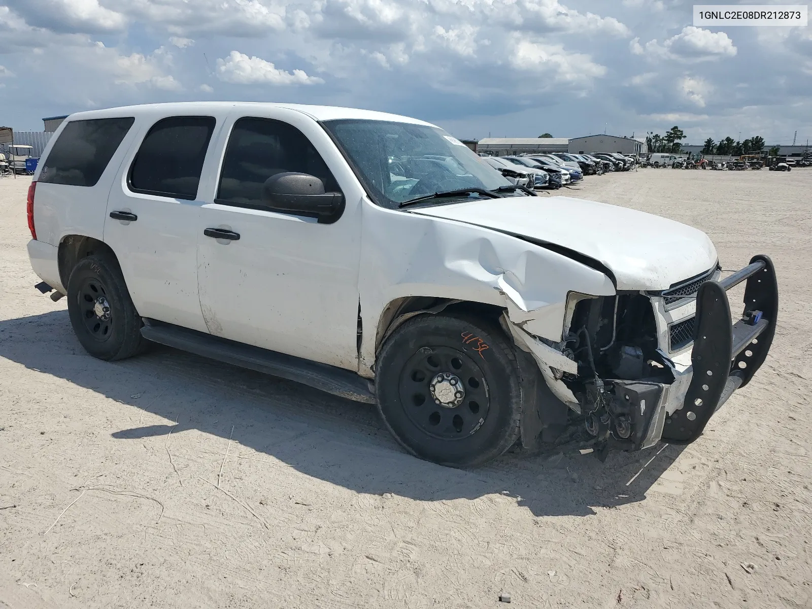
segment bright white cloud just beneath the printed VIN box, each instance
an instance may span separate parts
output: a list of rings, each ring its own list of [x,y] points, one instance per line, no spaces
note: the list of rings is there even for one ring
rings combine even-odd
[[[635,55],[645,55],[650,59],[675,59],[685,63],[702,62],[723,57],[735,57],[738,50],[725,32],[711,32],[689,25],[682,32],[672,36],[662,45],[656,40],[640,44],[640,38],[629,43],[629,50]]]

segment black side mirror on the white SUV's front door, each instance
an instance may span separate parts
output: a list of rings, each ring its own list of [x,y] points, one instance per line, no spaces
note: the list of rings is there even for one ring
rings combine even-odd
[[[266,179],[262,185],[262,203],[272,211],[317,218],[320,224],[335,222],[344,210],[341,192],[324,192],[321,179],[295,171]]]

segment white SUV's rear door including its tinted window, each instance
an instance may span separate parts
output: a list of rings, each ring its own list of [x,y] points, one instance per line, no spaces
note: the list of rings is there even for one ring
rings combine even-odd
[[[197,222],[214,115],[141,119],[140,145],[114,180],[104,240],[138,313],[206,331],[197,294]]]

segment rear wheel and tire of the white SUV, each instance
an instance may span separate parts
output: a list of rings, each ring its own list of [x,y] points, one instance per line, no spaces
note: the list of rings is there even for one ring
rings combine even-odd
[[[67,281],[67,312],[84,350],[100,360],[123,360],[149,344],[113,257],[94,255],[76,263]]]

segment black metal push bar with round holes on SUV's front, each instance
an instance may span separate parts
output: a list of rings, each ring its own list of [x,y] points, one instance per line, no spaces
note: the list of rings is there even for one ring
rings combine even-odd
[[[732,322],[727,291],[743,281],[745,308]],[[702,283],[697,293],[693,337],[693,377],[682,408],[666,417],[663,441],[692,443],[739,387],[744,387],[767,358],[778,313],[778,283],[767,256],[719,281]]]

